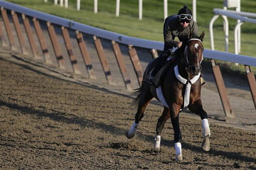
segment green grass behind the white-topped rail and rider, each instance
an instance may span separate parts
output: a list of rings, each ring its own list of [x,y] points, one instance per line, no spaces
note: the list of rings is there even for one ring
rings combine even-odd
[[[81,10],[76,10],[76,0],[69,0],[69,8],[54,5],[54,0],[9,0],[10,2],[36,9],[52,15],[74,20],[101,29],[117,32],[127,36],[163,41],[163,0],[144,0],[143,19],[138,19],[138,0],[121,0],[120,15],[115,16],[116,0],[98,0],[98,13],[94,13],[93,0],[81,0]],[[176,14],[184,4],[192,10],[192,0],[168,1],[168,15]],[[210,49],[209,22],[214,16],[214,8],[223,8],[223,0],[197,0],[197,24],[199,31],[205,31],[204,47]],[[241,0],[241,11],[254,12],[254,0]],[[234,53],[234,28],[236,20],[229,18],[229,52]],[[215,50],[224,51],[224,31],[221,17],[214,23]],[[244,23],[241,26],[241,53],[256,57],[256,25]],[[244,66],[219,61],[227,70],[244,74]],[[252,68],[254,72],[256,68]]]

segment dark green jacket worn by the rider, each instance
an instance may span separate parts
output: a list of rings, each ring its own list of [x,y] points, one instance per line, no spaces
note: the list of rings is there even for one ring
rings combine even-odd
[[[178,37],[180,41],[184,41],[187,39],[190,31],[192,31],[193,35],[198,35],[197,23],[193,19],[186,28],[183,28],[180,26],[179,17],[177,15],[171,15],[165,19],[163,31],[165,41],[164,50],[171,49],[178,45],[178,41],[174,40],[175,37]]]

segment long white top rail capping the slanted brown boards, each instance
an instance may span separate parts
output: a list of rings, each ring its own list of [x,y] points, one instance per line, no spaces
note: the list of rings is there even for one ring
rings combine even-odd
[[[65,26],[67,28],[71,28],[74,30],[79,30],[79,31],[87,33],[87,34],[99,36],[101,38],[114,40],[116,42],[120,42],[123,44],[129,44],[129,45],[133,45],[133,46],[137,46],[137,47],[148,48],[148,49],[157,49],[157,50],[163,50],[163,47],[164,47],[163,42],[129,37],[129,36],[115,33],[115,32],[94,28],[89,25],[84,25],[84,24],[74,22],[74,21],[71,21],[68,19],[64,19],[64,18],[61,18],[58,16],[49,15],[44,12],[38,12],[36,10],[29,9],[29,8],[26,8],[26,7],[23,7],[20,5],[16,5],[16,4],[13,4],[10,2],[0,0],[0,6],[3,6],[6,9],[14,10],[19,13],[25,13],[26,15],[36,17],[37,19],[49,21],[54,24],[62,25],[62,26]],[[240,63],[240,64],[244,64],[244,65],[248,65],[248,66],[256,66],[256,58],[250,57],[250,56],[237,55],[237,54],[232,54],[232,53],[226,53],[226,52],[205,49],[204,57],[210,58],[210,59],[222,60],[222,61],[229,61],[232,63]]]

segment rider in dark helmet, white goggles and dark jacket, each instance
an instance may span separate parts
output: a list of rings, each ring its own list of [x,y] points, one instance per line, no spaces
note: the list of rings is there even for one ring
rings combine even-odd
[[[165,61],[170,56],[172,48],[177,47],[175,54],[178,53],[179,48],[182,46],[182,41],[187,39],[188,33],[192,32],[193,35],[198,36],[197,23],[192,19],[192,12],[184,5],[177,15],[170,15],[164,22],[164,51],[158,57],[158,61],[151,77],[154,77],[158,71],[163,67]],[[179,41],[175,41],[178,37]]]

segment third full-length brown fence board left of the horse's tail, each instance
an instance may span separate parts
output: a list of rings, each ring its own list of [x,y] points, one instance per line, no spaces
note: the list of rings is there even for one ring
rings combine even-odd
[[[108,82],[108,84],[115,85],[112,75],[111,75],[111,72],[110,72],[110,69],[109,69],[109,66],[108,66],[108,62],[107,62],[103,47],[101,45],[101,40],[98,39],[96,36],[94,36],[93,38],[94,38],[94,45],[97,50],[97,53],[98,53],[98,56],[99,56],[99,59],[101,62],[101,66],[105,73],[107,82]]]

